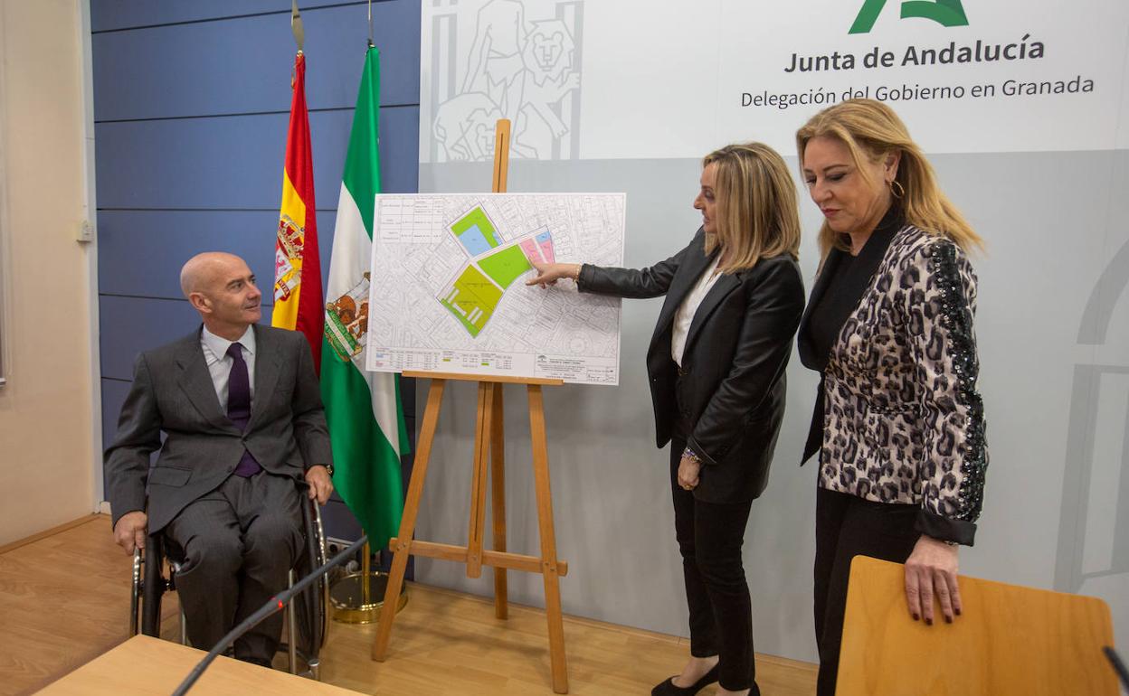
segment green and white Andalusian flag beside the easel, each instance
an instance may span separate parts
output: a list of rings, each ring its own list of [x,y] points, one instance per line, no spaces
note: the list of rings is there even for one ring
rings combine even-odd
[[[333,442],[333,485],[373,548],[387,546],[396,535],[403,511],[400,455],[408,449],[396,376],[365,371],[373,214],[380,192],[379,112],[379,52],[369,46],[333,231],[322,400]]]

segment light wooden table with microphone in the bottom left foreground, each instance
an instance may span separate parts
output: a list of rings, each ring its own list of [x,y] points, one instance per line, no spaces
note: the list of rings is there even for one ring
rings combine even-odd
[[[50,696],[119,696],[154,694],[168,696],[203,657],[202,650],[146,635],[133,636],[95,658],[59,681],[38,691]],[[295,694],[347,696],[357,694],[336,686],[296,677],[231,658],[217,658],[189,691],[246,696],[247,694]]]

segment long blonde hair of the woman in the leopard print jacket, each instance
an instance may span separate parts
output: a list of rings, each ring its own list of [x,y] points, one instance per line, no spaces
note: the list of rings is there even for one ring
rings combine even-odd
[[[843,143],[864,178],[869,177],[864,162],[874,164],[900,153],[894,178],[900,188],[898,185],[892,188],[896,192],[894,205],[901,206],[905,221],[931,235],[947,237],[964,250],[983,249],[983,239],[940,191],[933,166],[894,109],[874,99],[849,99],[823,109],[796,131],[800,170],[804,149],[813,138],[833,138]],[[826,256],[832,247],[850,249],[850,237],[835,234],[824,221],[820,228],[820,254]]]

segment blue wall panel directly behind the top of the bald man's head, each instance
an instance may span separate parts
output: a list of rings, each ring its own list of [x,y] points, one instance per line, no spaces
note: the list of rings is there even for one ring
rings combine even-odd
[[[200,252],[228,252],[247,262],[259,279],[263,302],[270,305],[278,219],[277,210],[103,211],[98,215],[98,290],[181,299],[184,262]],[[323,279],[330,273],[335,221],[332,210],[317,213]]]

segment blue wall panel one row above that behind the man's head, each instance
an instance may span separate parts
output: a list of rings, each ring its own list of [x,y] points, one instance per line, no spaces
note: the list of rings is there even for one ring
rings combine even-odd
[[[278,210],[288,114],[95,124],[98,208]],[[310,114],[314,191],[335,209],[352,109]],[[384,191],[419,182],[419,107],[380,109]]]

